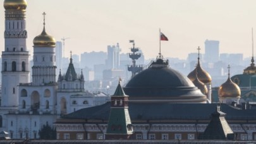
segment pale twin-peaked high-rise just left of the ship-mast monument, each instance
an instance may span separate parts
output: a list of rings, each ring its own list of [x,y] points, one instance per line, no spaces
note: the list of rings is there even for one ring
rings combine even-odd
[[[107,69],[119,69],[120,65],[120,55],[121,48],[119,48],[119,43],[116,45],[107,46]]]

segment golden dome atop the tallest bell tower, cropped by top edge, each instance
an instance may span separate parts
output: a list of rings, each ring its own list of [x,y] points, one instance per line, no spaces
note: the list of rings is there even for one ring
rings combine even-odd
[[[4,0],[4,9],[25,10],[27,8],[26,0]]]

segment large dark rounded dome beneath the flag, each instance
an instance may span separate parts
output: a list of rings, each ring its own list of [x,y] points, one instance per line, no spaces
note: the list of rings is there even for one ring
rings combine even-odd
[[[207,97],[190,79],[157,58],[124,87],[130,102],[206,102]]]

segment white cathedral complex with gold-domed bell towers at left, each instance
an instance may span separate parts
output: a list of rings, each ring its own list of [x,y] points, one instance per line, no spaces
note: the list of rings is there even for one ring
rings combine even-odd
[[[85,91],[83,73],[76,74],[70,58],[66,74],[56,82],[55,40],[44,28],[34,38],[34,65],[26,45],[26,0],[5,0],[4,51],[2,52],[2,96],[0,131],[11,138],[39,138],[43,125],[52,126],[62,114],[109,101],[99,92]],[[45,13],[44,13],[45,18]]]

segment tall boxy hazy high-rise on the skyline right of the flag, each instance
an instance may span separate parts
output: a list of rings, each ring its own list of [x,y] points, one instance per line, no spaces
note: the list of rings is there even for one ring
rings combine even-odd
[[[206,62],[219,61],[219,41],[217,40],[205,40],[205,57]]]

